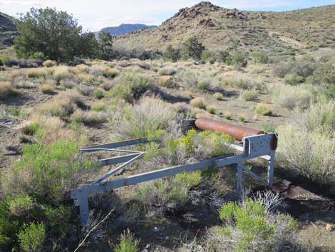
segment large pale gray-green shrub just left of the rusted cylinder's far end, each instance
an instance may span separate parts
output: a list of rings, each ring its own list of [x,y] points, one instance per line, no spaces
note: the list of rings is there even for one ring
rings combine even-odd
[[[160,99],[144,97],[137,104],[119,111],[111,122],[123,138],[139,138],[153,131],[167,129],[178,119],[180,116],[169,104]]]

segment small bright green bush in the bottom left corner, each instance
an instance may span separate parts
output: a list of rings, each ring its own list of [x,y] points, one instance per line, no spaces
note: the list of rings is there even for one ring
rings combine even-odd
[[[20,247],[23,251],[36,251],[41,247],[45,236],[46,228],[43,223],[26,224],[18,233]]]

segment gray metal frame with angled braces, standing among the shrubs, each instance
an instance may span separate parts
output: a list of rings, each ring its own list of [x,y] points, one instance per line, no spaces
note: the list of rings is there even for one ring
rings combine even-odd
[[[271,186],[274,176],[274,147],[272,146],[273,139],[277,140],[277,135],[275,133],[267,133],[256,136],[247,136],[243,138],[243,146],[238,146],[235,144],[230,144],[230,147],[236,149],[237,151],[242,151],[242,153],[235,155],[225,155],[216,158],[210,158],[207,160],[199,161],[197,163],[190,163],[183,166],[172,166],[168,168],[163,168],[157,171],[149,171],[147,173],[140,173],[133,176],[115,178],[110,181],[105,181],[105,178],[113,176],[115,173],[120,171],[120,169],[127,166],[129,163],[140,158],[144,152],[141,151],[129,151],[119,149],[118,147],[130,146],[138,143],[148,142],[148,138],[138,138],[129,141],[121,141],[118,143],[108,143],[97,146],[88,146],[81,148],[81,152],[92,152],[92,151],[118,151],[129,153],[125,156],[116,156],[113,158],[100,159],[97,162],[100,167],[108,166],[116,163],[123,163],[122,165],[109,171],[101,178],[98,178],[93,183],[83,186],[81,188],[74,188],[71,190],[71,198],[75,199],[80,208],[81,221],[85,225],[88,221],[88,196],[96,194],[103,191],[110,191],[115,188],[120,188],[123,186],[135,185],[137,183],[151,181],[156,178],[164,178],[167,176],[172,176],[183,171],[195,171],[201,168],[212,167],[223,167],[223,166],[234,166],[237,170],[237,192],[239,195],[242,193],[242,179],[243,172],[248,173],[264,183],[265,186]],[[261,178],[259,175],[250,171],[247,167],[243,165],[244,161],[252,158],[264,158],[268,161],[267,167],[267,181]]]

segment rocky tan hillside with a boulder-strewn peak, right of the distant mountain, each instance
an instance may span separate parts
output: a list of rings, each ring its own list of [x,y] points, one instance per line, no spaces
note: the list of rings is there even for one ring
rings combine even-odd
[[[282,52],[306,46],[335,45],[335,5],[296,11],[239,11],[200,2],[180,9],[158,29],[142,29],[118,36],[115,43],[165,49],[197,36],[205,46],[238,46]]]

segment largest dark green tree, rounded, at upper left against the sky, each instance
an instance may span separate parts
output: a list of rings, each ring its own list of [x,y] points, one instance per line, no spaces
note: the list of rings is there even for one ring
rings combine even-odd
[[[48,59],[71,61],[74,56],[96,56],[96,38],[83,33],[78,21],[66,11],[32,8],[21,14],[16,27],[20,36],[16,37],[14,47],[19,57],[43,54]]]

